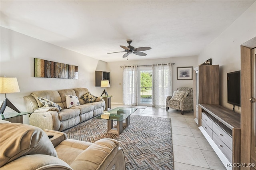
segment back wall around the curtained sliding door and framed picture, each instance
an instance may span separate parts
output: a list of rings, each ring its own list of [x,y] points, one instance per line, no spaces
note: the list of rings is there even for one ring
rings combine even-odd
[[[120,57],[122,57],[120,55]],[[193,80],[177,80],[177,67],[197,67],[197,56],[188,57],[170,57],[159,59],[145,59],[136,61],[117,61],[108,62],[110,70],[110,87],[107,88],[108,95],[114,95],[111,98],[111,103],[122,103],[122,68],[123,65],[152,65],[161,63],[175,63],[173,65],[173,91],[178,87],[193,87]],[[102,90],[103,91],[103,90]]]

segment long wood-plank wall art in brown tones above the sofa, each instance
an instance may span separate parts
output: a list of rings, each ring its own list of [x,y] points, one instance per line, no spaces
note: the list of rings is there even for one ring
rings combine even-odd
[[[34,58],[34,77],[78,79],[78,66]]]

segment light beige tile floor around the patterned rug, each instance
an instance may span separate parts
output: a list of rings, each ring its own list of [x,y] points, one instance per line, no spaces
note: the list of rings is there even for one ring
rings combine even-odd
[[[111,108],[122,106],[112,104]],[[181,115],[174,109],[147,107],[133,115],[171,119],[175,170],[226,170],[196,125],[192,111]]]

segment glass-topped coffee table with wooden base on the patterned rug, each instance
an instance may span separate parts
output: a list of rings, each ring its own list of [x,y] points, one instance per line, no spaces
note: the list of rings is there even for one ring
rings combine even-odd
[[[123,126],[130,125],[130,115],[136,111],[137,108],[132,107],[116,107],[102,115],[95,117],[96,119],[108,120],[108,132],[113,134],[120,134],[123,131]],[[123,121],[125,120],[125,123]],[[113,121],[117,121],[117,127],[113,128]]]

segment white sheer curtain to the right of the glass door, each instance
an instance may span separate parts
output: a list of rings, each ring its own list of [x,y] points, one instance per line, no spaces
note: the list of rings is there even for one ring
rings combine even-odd
[[[172,94],[172,65],[153,65],[153,107],[166,107],[166,97]]]

